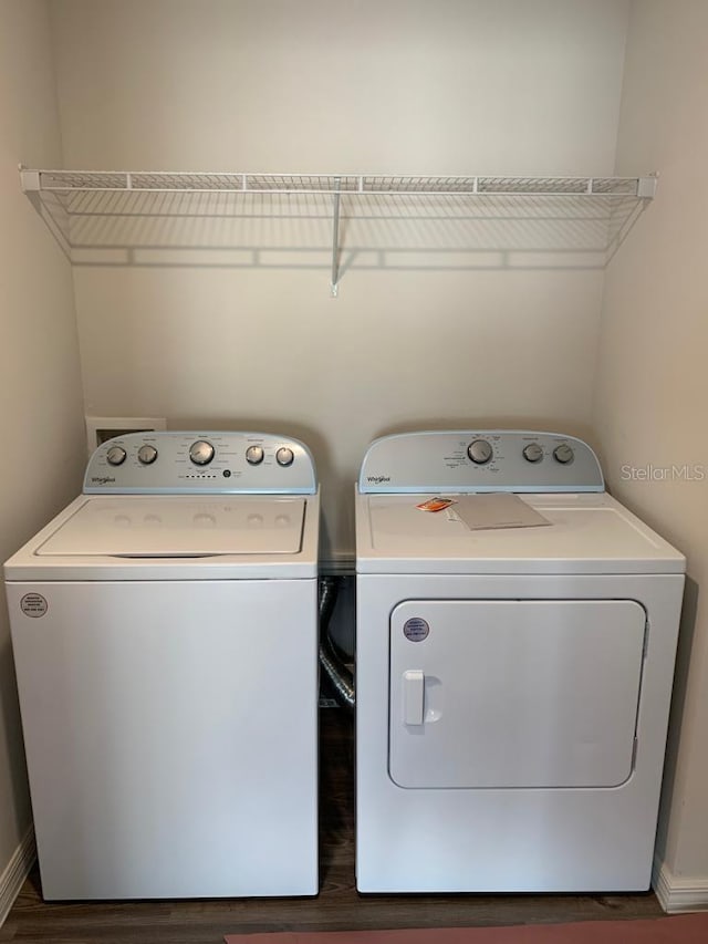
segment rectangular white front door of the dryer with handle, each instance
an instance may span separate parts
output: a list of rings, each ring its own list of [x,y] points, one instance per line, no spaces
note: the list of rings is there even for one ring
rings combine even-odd
[[[645,611],[633,600],[406,600],[391,618],[391,778],[616,787],[632,772]]]

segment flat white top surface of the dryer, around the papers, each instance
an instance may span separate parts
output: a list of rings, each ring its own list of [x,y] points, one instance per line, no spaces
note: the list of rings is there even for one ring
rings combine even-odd
[[[550,525],[471,530],[428,495],[360,495],[360,573],[683,573],[686,560],[607,494],[524,495]],[[452,499],[455,495],[449,496]],[[459,496],[457,496],[459,497]]]

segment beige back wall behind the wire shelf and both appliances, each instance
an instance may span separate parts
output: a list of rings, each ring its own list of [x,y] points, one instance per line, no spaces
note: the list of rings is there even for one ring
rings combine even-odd
[[[626,2],[51,0],[51,9],[70,168],[613,169]],[[331,239],[316,220],[254,226],[274,242],[288,229],[290,247],[300,230],[315,247]],[[396,226],[395,237],[371,221],[350,236],[433,250],[461,238],[446,242],[439,221]],[[165,224],[165,242],[174,232]],[[587,433],[600,269],[569,269],[563,253],[540,269],[469,251],[455,268],[438,253],[438,269],[426,271],[382,269],[376,257],[366,268],[356,257],[332,300],[326,252],[305,264],[284,255],[271,268],[77,267],[87,409],[301,436],[323,479],[325,554],[352,551],[352,483],[376,435],[496,423]]]

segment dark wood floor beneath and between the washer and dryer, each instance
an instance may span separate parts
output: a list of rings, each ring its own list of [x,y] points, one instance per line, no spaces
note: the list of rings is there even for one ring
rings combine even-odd
[[[354,888],[353,732],[322,710],[321,892],[316,899],[45,904],[37,869],[0,941],[24,944],[216,944],[263,931],[442,927],[652,917],[653,893],[628,895],[358,895]]]

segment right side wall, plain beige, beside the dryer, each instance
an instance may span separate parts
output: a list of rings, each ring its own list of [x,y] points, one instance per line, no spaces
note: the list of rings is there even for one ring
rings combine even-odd
[[[594,407],[611,487],[688,558],[657,851],[674,899],[705,906],[708,478],[677,478],[671,467],[708,474],[706,49],[705,0],[633,3],[617,169],[639,162],[660,179],[650,210],[607,272]],[[623,474],[623,466],[638,471]]]

